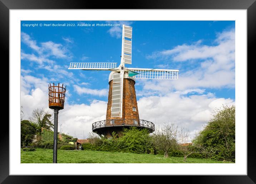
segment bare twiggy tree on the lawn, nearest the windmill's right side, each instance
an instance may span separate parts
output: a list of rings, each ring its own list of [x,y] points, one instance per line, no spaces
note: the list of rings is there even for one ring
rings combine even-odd
[[[178,126],[164,124],[161,130],[159,127],[152,135],[153,143],[156,148],[164,152],[164,157],[168,157],[169,149],[174,149],[177,144]]]

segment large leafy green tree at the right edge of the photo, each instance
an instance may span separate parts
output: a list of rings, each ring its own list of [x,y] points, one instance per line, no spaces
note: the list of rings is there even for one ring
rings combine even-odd
[[[235,162],[235,106],[216,108],[193,143],[205,148],[211,159]]]

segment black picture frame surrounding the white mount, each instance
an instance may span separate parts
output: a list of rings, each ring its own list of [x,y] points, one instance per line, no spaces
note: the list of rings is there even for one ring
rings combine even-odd
[[[139,0],[129,2],[127,5],[118,4],[115,1],[88,1],[88,0],[0,0],[0,37],[2,58],[9,61],[9,10],[11,9],[246,9],[247,10],[247,63],[255,61],[256,52],[253,48],[256,45],[256,2],[255,0]],[[10,70],[10,68],[9,68]],[[248,72],[247,72],[248,73]],[[248,84],[248,81],[247,81]],[[252,83],[253,84],[253,83]],[[10,85],[10,84],[9,84]],[[248,91],[248,89],[247,89]],[[9,92],[10,94],[10,92]],[[248,94],[248,93],[247,93]],[[10,96],[9,96],[10,98]],[[9,108],[8,108],[9,109]],[[247,108],[248,109],[248,108]],[[249,109],[248,109],[249,110]],[[9,109],[10,113],[11,109]],[[248,114],[248,113],[247,113]],[[246,122],[239,122],[246,123]],[[190,183],[255,183],[256,182],[256,147],[254,137],[254,122],[247,121],[247,175],[180,175],[166,176],[177,178],[182,177]],[[0,145],[2,145],[0,157],[0,183],[47,183],[53,182],[57,177],[58,182],[66,182],[69,176],[31,176],[31,175],[9,175],[9,126],[2,123]],[[3,131],[5,130],[5,131]],[[4,145],[4,146],[3,146]],[[81,176],[82,177],[82,176]],[[110,176],[104,176],[105,181]],[[125,183],[134,182],[134,176],[123,176]],[[163,176],[161,176],[163,177]],[[73,176],[73,178],[77,178]],[[80,178],[80,177],[79,177]],[[99,176],[84,176],[81,179],[99,182]],[[113,176],[112,176],[113,178]],[[143,177],[143,183],[153,181],[154,176]],[[56,179],[56,178],[54,178]],[[76,182],[79,180],[76,179]],[[101,182],[104,182],[101,181]],[[174,180],[173,180],[174,181]],[[171,182],[171,181],[170,181]],[[122,182],[123,183],[123,182]]]

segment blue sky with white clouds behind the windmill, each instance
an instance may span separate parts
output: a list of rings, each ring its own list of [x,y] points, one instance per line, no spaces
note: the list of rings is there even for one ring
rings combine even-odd
[[[75,26],[44,26],[58,23]],[[180,124],[193,137],[215,107],[235,103],[235,21],[21,21],[25,117],[37,106],[47,109],[47,84],[60,82],[67,85],[63,119],[59,116],[65,133],[86,137],[94,121],[105,119],[110,72],[68,67],[70,62],[119,65],[122,24],[133,27],[132,65],[126,67],[179,70],[177,81],[136,81],[140,117],[160,126]]]

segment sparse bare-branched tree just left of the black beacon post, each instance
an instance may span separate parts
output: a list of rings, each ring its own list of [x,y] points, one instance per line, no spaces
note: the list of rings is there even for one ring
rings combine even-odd
[[[45,111],[44,108],[36,108],[33,110],[29,120],[37,125],[37,136],[40,139],[41,129],[45,128],[51,130],[53,123],[51,123],[51,114]]]

